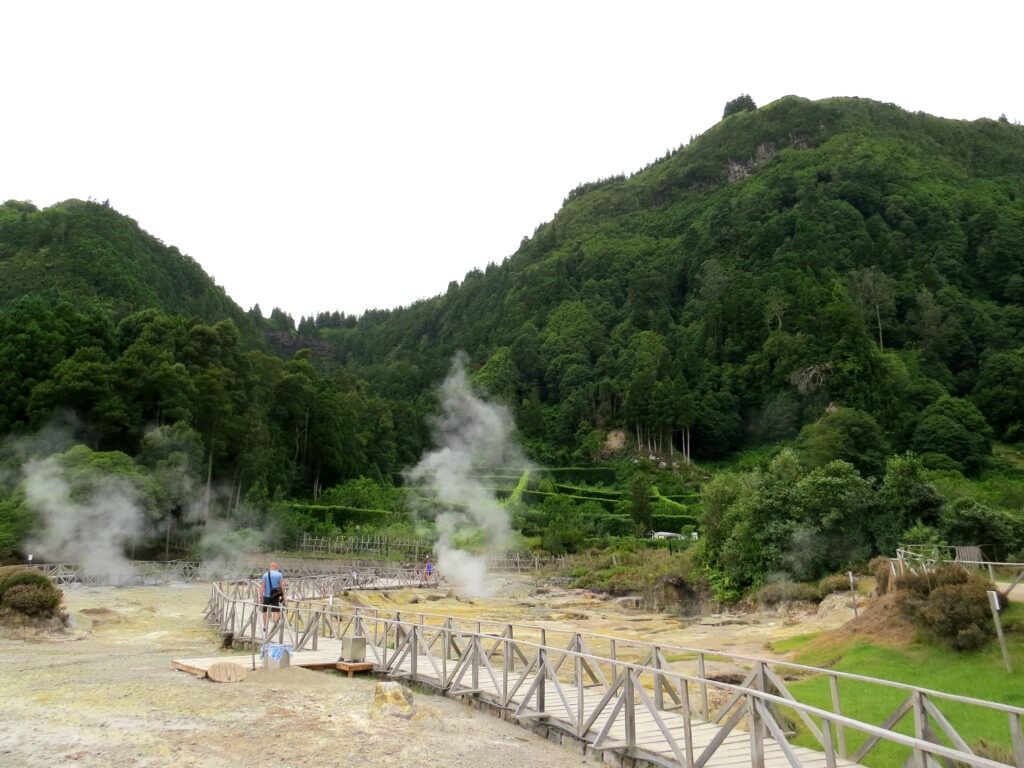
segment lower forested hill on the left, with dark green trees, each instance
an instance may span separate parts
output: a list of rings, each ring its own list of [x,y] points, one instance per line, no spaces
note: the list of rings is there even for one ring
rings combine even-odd
[[[233,504],[253,487],[309,496],[415,461],[394,455],[389,403],[346,374],[321,376],[307,352],[268,351],[264,336],[290,325],[278,309],[244,312],[105,204],[0,206],[0,435],[58,427],[155,467],[173,456],[186,484],[205,474]],[[158,518],[181,493],[162,490]]]

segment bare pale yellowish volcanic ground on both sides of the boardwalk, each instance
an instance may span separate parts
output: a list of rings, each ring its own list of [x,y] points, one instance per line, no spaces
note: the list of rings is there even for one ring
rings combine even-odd
[[[72,632],[0,639],[0,765],[599,765],[442,696],[418,694],[410,718],[375,715],[371,702],[377,681],[372,677],[257,669],[241,683],[218,684],[176,672],[173,658],[217,652],[219,636],[203,621],[209,594],[205,584],[68,588]],[[359,599],[430,612],[571,623],[665,643],[685,638],[682,644],[752,655],[758,650],[764,655],[768,639],[824,626],[816,617],[804,617],[808,623],[776,616],[744,625],[708,617],[706,625],[687,628],[671,617],[624,610],[589,593],[538,595],[511,581],[503,597],[488,601],[461,600],[436,590]]]

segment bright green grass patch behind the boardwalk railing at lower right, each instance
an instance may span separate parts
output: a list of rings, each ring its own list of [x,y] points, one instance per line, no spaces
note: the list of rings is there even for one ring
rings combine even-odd
[[[995,641],[981,651],[965,653],[927,640],[919,640],[901,648],[892,648],[874,645],[868,640],[859,638],[842,646],[813,644],[798,655],[798,662],[810,666],[829,666],[830,669],[840,672],[1024,707],[1024,605],[1011,605],[1001,615],[1001,621],[1013,665],[1011,673],[1007,672],[1002,653]],[[787,649],[795,649],[802,643],[809,643],[812,637],[793,638],[783,644],[792,646]],[[774,647],[779,649],[778,645]],[[798,700],[822,710],[833,709],[826,676],[816,675],[787,685]],[[907,696],[905,691],[850,680],[840,680],[839,690],[844,715],[878,726],[881,726]],[[994,759],[999,759],[999,754],[1005,756],[1005,751],[1011,749],[1006,715],[958,702],[938,701],[937,706],[967,743],[972,745],[984,743],[983,752]],[[912,734],[912,713],[907,713],[895,727],[895,730],[907,735]],[[797,743],[820,749],[802,724],[797,730],[800,734],[795,739]],[[936,727],[936,730],[939,729]],[[848,754],[852,755],[863,740],[862,734],[848,730]],[[944,742],[949,743],[945,739]],[[1004,752],[1000,753],[1000,750]],[[902,748],[880,744],[862,762],[868,766],[888,768],[902,764],[906,756],[907,752]]]

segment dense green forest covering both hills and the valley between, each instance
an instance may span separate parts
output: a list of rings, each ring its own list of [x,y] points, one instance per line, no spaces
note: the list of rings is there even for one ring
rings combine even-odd
[[[549,551],[689,520],[727,592],[908,531],[998,523],[998,554],[1024,547],[1016,452],[992,452],[1024,440],[1024,129],[1005,120],[740,97],[445,294],[297,324],[106,205],[8,201],[0,329],[0,556],[36,524],[15,470],[44,455],[127,461],[152,541],[273,505],[291,528],[397,512],[459,354],[550,470],[512,497]],[[800,537],[853,546],[796,564]]]

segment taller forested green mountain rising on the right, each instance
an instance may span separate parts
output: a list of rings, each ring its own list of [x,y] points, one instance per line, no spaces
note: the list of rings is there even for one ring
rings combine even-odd
[[[966,431],[922,416],[967,398],[1019,436],[1022,301],[1024,129],[786,97],[573,189],[444,296],[300,331],[388,398],[466,350],[553,461],[597,456],[611,428],[722,456],[842,408],[963,464]]]

